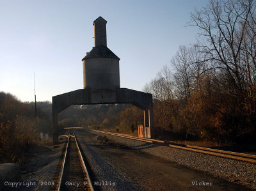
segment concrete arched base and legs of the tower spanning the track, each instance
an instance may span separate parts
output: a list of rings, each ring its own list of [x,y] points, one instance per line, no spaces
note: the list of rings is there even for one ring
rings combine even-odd
[[[52,136],[53,144],[58,142],[58,113],[70,105],[131,103],[144,111],[145,137],[153,138],[152,94],[127,88],[117,89],[77,89],[52,96]]]

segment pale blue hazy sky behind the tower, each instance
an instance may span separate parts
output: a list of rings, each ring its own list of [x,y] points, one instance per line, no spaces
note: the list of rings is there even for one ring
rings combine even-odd
[[[0,0],[0,91],[22,101],[83,88],[81,59],[94,46],[93,20],[107,23],[108,48],[120,57],[121,88],[142,91],[180,45],[198,33],[186,27],[207,0]]]

